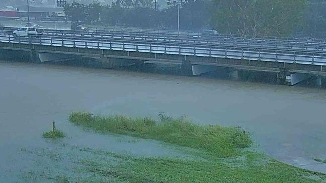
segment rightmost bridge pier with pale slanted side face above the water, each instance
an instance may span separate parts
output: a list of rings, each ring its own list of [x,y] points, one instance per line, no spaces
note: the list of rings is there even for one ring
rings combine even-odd
[[[277,83],[281,85],[295,85],[301,81],[304,81],[310,77],[312,74],[305,73],[290,73],[287,71],[281,71],[277,74]]]

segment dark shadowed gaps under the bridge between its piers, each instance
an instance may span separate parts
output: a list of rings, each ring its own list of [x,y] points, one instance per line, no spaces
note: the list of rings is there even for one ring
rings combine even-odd
[[[96,59],[47,62],[44,64],[99,68],[99,69],[114,69],[114,70],[129,71],[129,72],[144,72],[144,73],[154,73],[154,74],[162,74],[162,75],[184,76],[182,74],[180,65],[177,64],[145,63],[145,64],[132,64],[126,67],[107,68],[105,65],[103,65],[103,63],[99,62]],[[217,68],[214,71],[203,73],[198,76],[188,76],[188,77],[202,77],[202,78],[220,79],[220,80],[237,80],[242,82],[267,83],[272,85],[278,84],[277,73],[274,72],[241,70],[238,72],[237,78],[232,78],[228,74],[228,68]],[[321,86],[318,86],[316,84],[315,76],[294,85],[294,87],[295,86],[307,87],[307,88],[326,88],[326,78],[322,77]]]

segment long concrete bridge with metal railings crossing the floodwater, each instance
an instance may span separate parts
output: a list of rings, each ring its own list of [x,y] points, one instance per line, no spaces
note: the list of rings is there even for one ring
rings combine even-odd
[[[225,68],[237,78],[241,70],[277,73],[280,84],[294,85],[326,76],[323,40],[201,37],[137,32],[45,30],[40,38],[15,38],[0,30],[0,54],[28,53],[32,62],[96,57],[108,67],[161,62],[179,64],[186,75]],[[0,55],[0,56],[1,56]]]

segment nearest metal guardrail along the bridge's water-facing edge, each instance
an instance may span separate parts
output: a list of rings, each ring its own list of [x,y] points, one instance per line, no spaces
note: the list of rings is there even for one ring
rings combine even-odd
[[[280,53],[280,50],[236,50],[232,47],[225,46],[208,47],[185,43],[161,45],[148,44],[147,42],[139,40],[103,41],[101,39],[94,38],[87,38],[81,40],[80,38],[60,38],[51,36],[41,38],[13,38],[10,35],[0,35],[0,41],[20,44],[53,45],[90,49],[125,50],[172,55],[192,55],[216,58],[326,65],[326,57],[324,57],[323,54],[307,54],[307,52],[300,53],[293,51],[283,51],[282,53]]]

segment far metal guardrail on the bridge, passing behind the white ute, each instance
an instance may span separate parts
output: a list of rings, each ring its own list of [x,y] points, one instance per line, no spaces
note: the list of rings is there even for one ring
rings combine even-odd
[[[7,28],[8,33],[11,32],[14,28]],[[326,50],[326,43],[292,43],[284,40],[278,40],[277,42],[271,40],[250,40],[250,39],[236,39],[236,38],[220,38],[216,37],[216,39],[203,39],[203,38],[183,38],[180,36],[177,37],[169,37],[157,35],[147,35],[147,34],[134,34],[133,32],[84,32],[84,31],[74,31],[74,30],[53,30],[46,29],[45,34],[48,35],[61,35],[61,36],[91,36],[91,37],[120,37],[121,39],[142,39],[142,40],[157,40],[157,41],[165,41],[165,42],[187,42],[187,43],[196,43],[196,44],[205,44],[208,46],[217,46],[217,45],[225,45],[225,46],[238,46],[242,48],[252,47],[256,49],[268,48],[268,49],[282,49],[282,50],[292,50],[292,51],[308,51],[315,53],[324,53]]]

